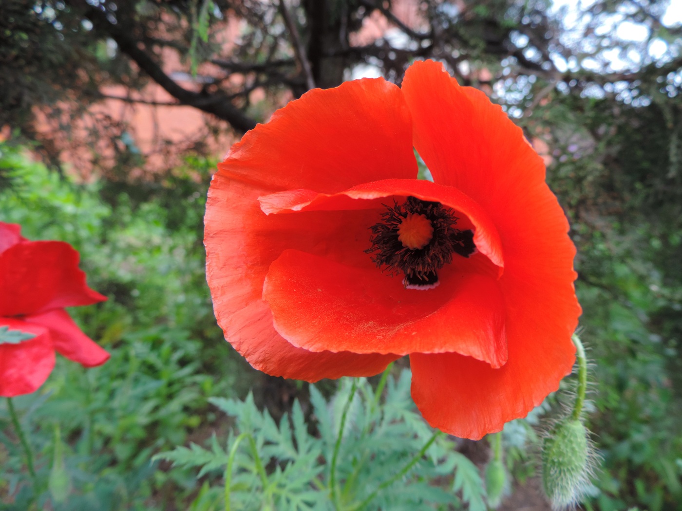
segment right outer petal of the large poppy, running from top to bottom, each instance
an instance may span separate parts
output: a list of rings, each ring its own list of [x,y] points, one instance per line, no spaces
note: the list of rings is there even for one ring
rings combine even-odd
[[[411,356],[413,397],[430,424],[479,438],[525,416],[571,371],[580,306],[575,248],[542,159],[499,106],[459,87],[441,64],[415,63],[402,90],[415,146],[434,181],[456,186],[490,215],[504,247],[499,284],[509,359],[491,370],[456,354]],[[447,406],[445,405],[447,396]]]

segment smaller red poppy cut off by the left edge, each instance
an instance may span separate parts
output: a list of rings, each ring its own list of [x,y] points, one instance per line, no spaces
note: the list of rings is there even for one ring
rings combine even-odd
[[[85,367],[104,364],[109,354],[64,310],[102,300],[85,283],[71,245],[28,241],[20,226],[0,222],[0,396],[40,387],[55,367],[55,350]]]

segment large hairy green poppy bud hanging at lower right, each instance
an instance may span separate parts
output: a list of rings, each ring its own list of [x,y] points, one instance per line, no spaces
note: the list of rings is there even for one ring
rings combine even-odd
[[[589,484],[591,446],[580,420],[557,424],[542,446],[542,479],[552,508],[576,504]]]

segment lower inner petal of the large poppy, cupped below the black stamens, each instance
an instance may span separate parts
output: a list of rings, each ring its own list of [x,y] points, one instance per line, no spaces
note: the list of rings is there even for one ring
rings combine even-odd
[[[504,310],[494,279],[441,272],[433,290],[400,277],[296,250],[270,266],[263,298],[275,328],[311,351],[458,352],[500,367],[507,358]]]

